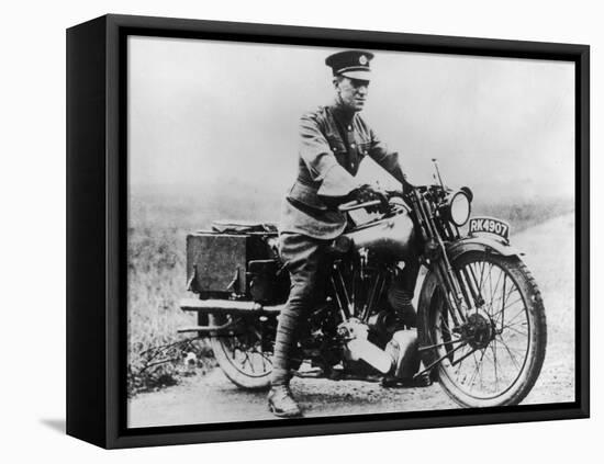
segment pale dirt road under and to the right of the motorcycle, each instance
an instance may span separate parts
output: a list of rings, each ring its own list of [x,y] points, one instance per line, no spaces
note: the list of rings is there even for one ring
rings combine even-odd
[[[514,235],[512,244],[526,252],[545,301],[547,355],[533,392],[524,404],[574,399],[574,215],[564,215]],[[294,380],[292,391],[306,417],[344,416],[457,406],[438,384],[427,388],[385,389],[358,381]],[[187,378],[160,392],[141,394],[128,403],[130,427],[192,425],[272,419],[265,393],[237,389],[220,370]]]

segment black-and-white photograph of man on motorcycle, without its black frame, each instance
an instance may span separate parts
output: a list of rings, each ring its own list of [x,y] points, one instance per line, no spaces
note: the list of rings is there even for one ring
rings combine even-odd
[[[127,37],[127,428],[577,400],[575,64]]]

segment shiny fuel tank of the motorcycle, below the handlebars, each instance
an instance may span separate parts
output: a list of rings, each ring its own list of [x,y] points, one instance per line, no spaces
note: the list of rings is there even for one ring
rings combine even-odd
[[[357,250],[367,250],[393,261],[403,261],[417,254],[413,220],[406,211],[365,224],[347,234]]]

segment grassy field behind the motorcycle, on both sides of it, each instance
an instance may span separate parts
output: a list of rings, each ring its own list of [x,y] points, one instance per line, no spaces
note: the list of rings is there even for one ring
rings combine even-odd
[[[178,307],[186,291],[187,234],[205,228],[215,218],[278,220],[280,197],[253,201],[232,189],[231,197],[195,197],[166,192],[131,192],[128,211],[128,394],[160,388],[180,376],[203,372],[213,365],[203,340],[183,342],[180,326],[195,324]],[[246,199],[245,203],[242,199]],[[474,214],[505,219],[512,235],[550,217],[572,211],[570,200],[474,203]],[[183,362],[194,353],[195,369]]]

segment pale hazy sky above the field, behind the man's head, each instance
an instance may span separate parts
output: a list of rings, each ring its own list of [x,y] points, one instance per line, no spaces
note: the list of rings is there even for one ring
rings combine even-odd
[[[298,122],[333,101],[333,48],[130,37],[131,185],[295,177]],[[502,194],[574,190],[574,65],[373,50],[362,115],[412,181]]]

